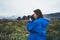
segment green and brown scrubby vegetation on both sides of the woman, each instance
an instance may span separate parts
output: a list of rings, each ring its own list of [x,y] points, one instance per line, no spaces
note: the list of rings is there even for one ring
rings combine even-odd
[[[27,20],[0,20],[0,40],[27,40]],[[47,40],[60,40],[60,21],[51,21],[47,27]]]

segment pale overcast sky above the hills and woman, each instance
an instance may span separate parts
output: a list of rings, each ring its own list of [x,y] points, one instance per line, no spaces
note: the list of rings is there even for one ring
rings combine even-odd
[[[60,12],[60,0],[0,0],[0,16],[23,16],[41,9],[43,14]]]

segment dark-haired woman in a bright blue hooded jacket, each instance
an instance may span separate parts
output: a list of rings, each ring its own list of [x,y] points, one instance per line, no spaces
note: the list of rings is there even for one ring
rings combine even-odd
[[[28,40],[46,40],[46,28],[49,20],[44,19],[41,10],[34,10],[35,20],[28,21],[27,30],[30,32]]]

